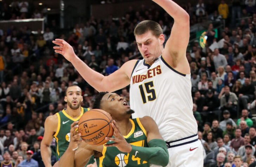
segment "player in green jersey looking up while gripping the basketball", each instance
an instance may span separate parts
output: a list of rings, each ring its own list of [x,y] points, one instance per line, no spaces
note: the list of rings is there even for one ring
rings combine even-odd
[[[168,164],[166,143],[151,117],[129,119],[134,111],[116,93],[101,92],[96,96],[93,108],[103,109],[111,115],[114,120],[111,124],[114,138],[105,138],[109,140],[106,145],[88,145],[83,140],[79,141],[81,133],[75,135],[78,125],[75,126],[77,122],[73,122],[69,147],[60,158],[60,167],[84,166],[94,150],[102,153],[96,159],[98,167],[149,167],[150,164]],[[81,143],[79,147],[78,143]]]

